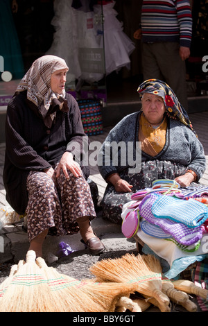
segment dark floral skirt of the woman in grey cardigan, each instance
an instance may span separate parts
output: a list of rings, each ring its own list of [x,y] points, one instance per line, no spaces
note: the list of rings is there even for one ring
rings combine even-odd
[[[102,200],[103,218],[113,223],[121,224],[121,212],[125,203],[130,202],[132,194],[140,189],[152,187],[152,183],[158,179],[175,179],[187,170],[186,167],[170,161],[151,160],[141,163],[141,171],[139,173],[128,173],[128,169],[120,173],[123,180],[128,181],[132,185],[132,192],[117,192],[112,184],[107,185]]]

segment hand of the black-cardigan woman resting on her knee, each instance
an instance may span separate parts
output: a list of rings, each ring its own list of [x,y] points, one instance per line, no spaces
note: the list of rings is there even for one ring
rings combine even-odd
[[[57,168],[55,169],[56,178],[60,176],[60,170],[64,172],[66,178],[69,178],[69,173],[67,169],[69,169],[71,173],[73,173],[73,175],[75,175],[76,177],[80,177],[83,175],[80,165],[73,160],[73,155],[70,152],[65,152],[62,155],[62,158],[60,159],[60,162]]]

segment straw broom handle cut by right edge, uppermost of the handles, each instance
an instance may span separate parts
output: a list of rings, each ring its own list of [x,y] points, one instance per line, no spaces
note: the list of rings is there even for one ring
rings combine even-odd
[[[196,286],[193,282],[189,280],[173,281],[173,285],[177,290],[184,291],[189,294],[198,295],[202,299],[207,299],[208,290]]]

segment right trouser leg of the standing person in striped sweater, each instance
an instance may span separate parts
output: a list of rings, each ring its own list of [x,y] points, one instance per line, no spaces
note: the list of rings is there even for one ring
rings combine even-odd
[[[154,44],[157,63],[164,81],[173,89],[178,100],[188,111],[186,64],[180,58],[177,42],[159,42]]]

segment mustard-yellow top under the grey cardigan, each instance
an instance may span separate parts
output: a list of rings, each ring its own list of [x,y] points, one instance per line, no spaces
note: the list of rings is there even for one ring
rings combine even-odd
[[[153,128],[146,120],[144,114],[141,114],[139,119],[139,141],[141,141],[141,151],[144,151],[150,156],[155,156],[162,151],[166,143],[166,118],[157,127]]]

